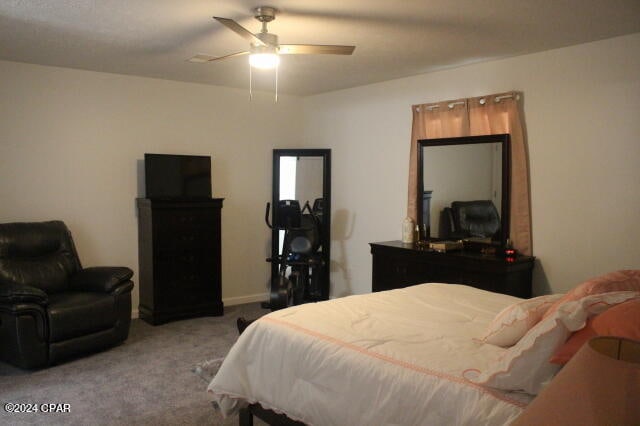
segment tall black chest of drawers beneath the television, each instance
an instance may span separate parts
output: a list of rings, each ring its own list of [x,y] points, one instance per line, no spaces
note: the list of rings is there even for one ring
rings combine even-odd
[[[222,315],[222,198],[137,199],[140,318]]]

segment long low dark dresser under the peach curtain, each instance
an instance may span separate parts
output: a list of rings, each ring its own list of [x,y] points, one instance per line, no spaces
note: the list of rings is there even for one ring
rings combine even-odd
[[[391,290],[426,282],[467,284],[512,296],[531,297],[534,257],[512,261],[477,252],[438,253],[401,241],[370,243],[373,291]]]

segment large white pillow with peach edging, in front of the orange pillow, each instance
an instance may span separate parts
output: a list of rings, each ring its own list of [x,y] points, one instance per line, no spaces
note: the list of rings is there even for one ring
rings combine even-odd
[[[487,370],[471,368],[465,371],[464,377],[496,389],[537,395],[560,369],[559,365],[551,364],[549,358],[573,331],[583,328],[590,316],[638,297],[637,291],[615,291],[564,303],[515,346],[505,349]]]

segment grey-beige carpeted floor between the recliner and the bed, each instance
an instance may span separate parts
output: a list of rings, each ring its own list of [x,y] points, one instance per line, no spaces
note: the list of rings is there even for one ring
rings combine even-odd
[[[104,352],[39,371],[0,363],[0,424],[237,425],[214,410],[192,370],[226,355],[236,318],[267,312],[255,303],[155,327],[133,320],[127,341]],[[69,404],[71,412],[9,414],[6,403]]]

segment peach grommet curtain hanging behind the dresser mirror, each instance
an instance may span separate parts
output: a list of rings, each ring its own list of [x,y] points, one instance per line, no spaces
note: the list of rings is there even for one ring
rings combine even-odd
[[[417,220],[418,140],[509,133],[511,136],[511,225],[514,247],[531,255],[529,163],[517,92],[414,105],[409,154],[407,216]]]

